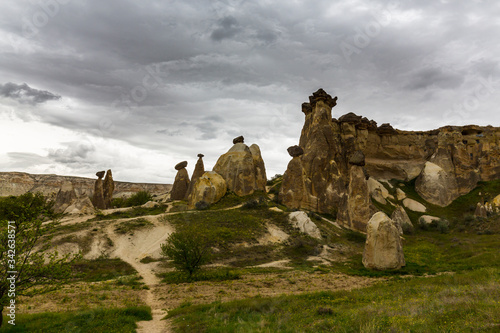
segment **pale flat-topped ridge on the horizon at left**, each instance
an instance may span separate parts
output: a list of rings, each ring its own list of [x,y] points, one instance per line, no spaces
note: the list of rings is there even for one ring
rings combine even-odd
[[[21,195],[26,192],[42,192],[44,195],[51,195],[57,193],[65,181],[73,184],[78,196],[91,196],[96,179],[58,175],[32,175],[24,172],[0,172],[0,196]],[[169,192],[171,188],[171,184],[115,181],[113,197],[129,197],[139,191],[162,194]]]

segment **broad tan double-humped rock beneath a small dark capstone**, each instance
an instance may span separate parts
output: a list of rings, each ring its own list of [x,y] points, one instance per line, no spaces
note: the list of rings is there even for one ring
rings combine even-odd
[[[266,189],[264,160],[256,144],[248,147],[242,142],[235,143],[227,153],[219,157],[213,171],[224,178],[228,190],[239,196]]]

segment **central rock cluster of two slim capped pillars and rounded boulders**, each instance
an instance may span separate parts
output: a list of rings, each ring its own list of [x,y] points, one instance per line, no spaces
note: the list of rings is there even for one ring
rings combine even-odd
[[[189,208],[194,208],[200,201],[208,204],[219,201],[227,191],[239,196],[265,191],[267,177],[260,148],[256,144],[248,147],[243,136],[233,140],[233,146],[219,157],[212,171],[205,171],[203,157],[198,154],[191,179],[186,161],[175,166],[177,175],[170,194],[172,200],[187,200]]]

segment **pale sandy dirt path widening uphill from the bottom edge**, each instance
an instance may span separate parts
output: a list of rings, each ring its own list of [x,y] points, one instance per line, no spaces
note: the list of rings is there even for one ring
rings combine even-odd
[[[153,271],[154,263],[143,264],[140,262],[147,255],[157,253],[160,244],[173,232],[169,225],[155,224],[155,228],[136,232],[133,236],[118,236],[113,231],[113,225],[106,228],[106,234],[113,241],[115,250],[112,255],[130,264],[143,278],[149,290],[146,292],[145,302],[151,307],[153,320],[138,322],[139,333],[170,332],[169,323],[161,320],[167,311],[163,303],[155,296],[160,280]]]

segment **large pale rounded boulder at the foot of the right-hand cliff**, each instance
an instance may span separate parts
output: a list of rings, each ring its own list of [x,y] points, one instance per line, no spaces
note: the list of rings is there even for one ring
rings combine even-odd
[[[427,202],[448,206],[458,197],[457,181],[452,174],[432,162],[426,162],[415,182],[415,190]]]

